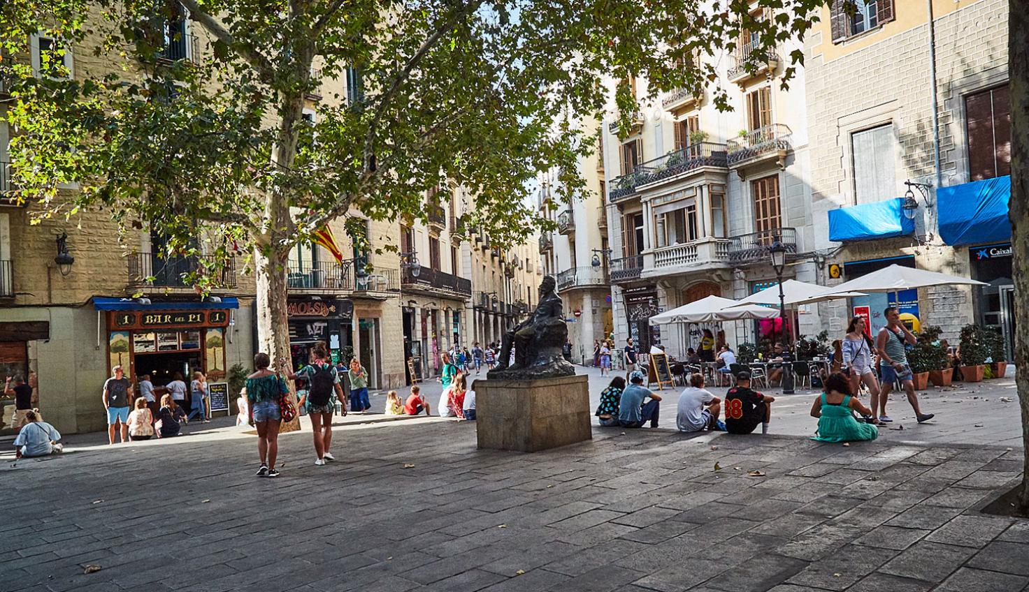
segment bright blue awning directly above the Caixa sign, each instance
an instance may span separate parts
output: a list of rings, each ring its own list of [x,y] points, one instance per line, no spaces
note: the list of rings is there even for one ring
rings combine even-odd
[[[1010,196],[1009,176],[941,187],[936,191],[939,236],[955,246],[1010,239]]]

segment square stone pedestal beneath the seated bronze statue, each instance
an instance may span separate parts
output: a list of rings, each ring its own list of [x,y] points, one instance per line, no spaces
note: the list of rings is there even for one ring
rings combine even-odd
[[[535,452],[593,438],[588,376],[475,380],[480,448]]]

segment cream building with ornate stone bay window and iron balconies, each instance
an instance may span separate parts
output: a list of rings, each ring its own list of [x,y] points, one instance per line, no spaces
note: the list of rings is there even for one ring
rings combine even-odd
[[[815,280],[805,71],[796,72],[787,89],[781,86],[787,57],[801,44],[784,42],[756,61],[756,42],[744,33],[734,53],[713,59],[732,111],[718,111],[707,88],[647,99],[648,83],[639,78],[630,80],[639,111],[628,133],[613,113],[604,125],[609,274],[619,343],[631,336],[644,350],[663,344],[681,357],[706,328],[724,331],[719,337],[733,344],[777,338],[777,320],[724,327],[648,324],[660,311],[706,296],[740,298],[774,285],[768,247],[775,242],[788,252],[786,279]],[[748,63],[754,63],[752,70],[744,68]],[[807,333],[815,325],[802,314],[790,318],[786,330]]]

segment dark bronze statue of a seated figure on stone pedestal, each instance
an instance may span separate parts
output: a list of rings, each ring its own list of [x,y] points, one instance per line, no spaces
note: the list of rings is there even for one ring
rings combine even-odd
[[[504,333],[497,367],[487,374],[490,379],[532,380],[573,376],[575,367],[565,360],[562,346],[568,339],[564,306],[554,289],[552,275],[539,285],[539,305],[528,319]],[[514,363],[508,365],[511,348]]]

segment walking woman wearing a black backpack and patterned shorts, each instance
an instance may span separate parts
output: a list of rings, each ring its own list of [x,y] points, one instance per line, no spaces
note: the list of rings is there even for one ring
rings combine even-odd
[[[332,414],[335,412],[335,403],[332,402],[332,395],[335,394],[342,405],[343,414],[347,414],[347,400],[343,396],[343,386],[340,385],[340,375],[329,360],[328,349],[324,343],[315,343],[311,348],[311,364],[300,368],[296,374],[290,374],[290,380],[304,378],[308,383],[308,396],[305,401],[305,408],[308,417],[311,417],[311,431],[314,434],[315,454],[318,459],[315,465],[321,467],[326,460],[335,460],[335,457],[328,451],[332,443]]]

